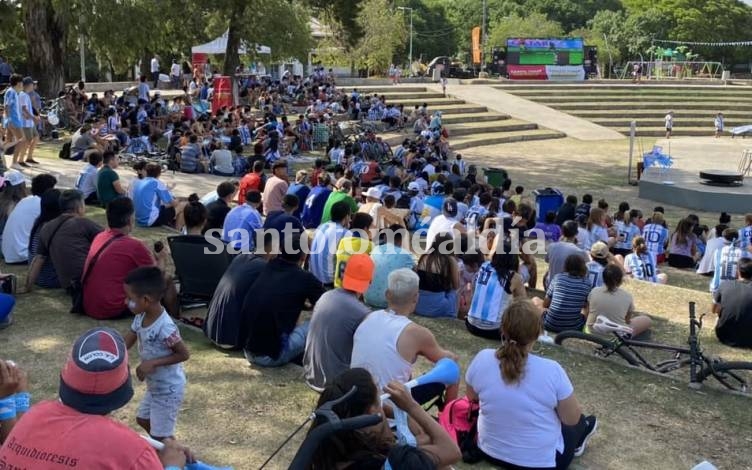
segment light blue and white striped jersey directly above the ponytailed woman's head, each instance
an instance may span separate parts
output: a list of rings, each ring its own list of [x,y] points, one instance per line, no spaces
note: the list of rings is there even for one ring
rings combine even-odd
[[[475,276],[475,291],[467,313],[467,321],[476,328],[495,330],[501,327],[501,317],[512,300],[511,282],[514,272],[499,278],[490,261],[481,265]]]

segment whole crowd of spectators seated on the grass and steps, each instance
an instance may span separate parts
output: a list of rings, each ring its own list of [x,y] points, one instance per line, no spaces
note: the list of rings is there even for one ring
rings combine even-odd
[[[136,106],[124,106],[136,108],[125,127],[147,126],[151,135],[149,113],[162,105],[152,101],[148,86],[142,77],[138,93],[146,88],[148,103],[140,98]],[[357,91],[337,92],[325,74],[286,77],[277,89],[270,87],[246,89],[264,110],[258,126],[244,108],[220,111],[208,128],[184,110],[175,120],[167,117],[164,129],[177,142],[172,147],[181,169],[242,176],[203,198],[175,197],[160,179],[159,163],[138,162],[132,183],[121,180],[115,147],[130,145],[133,135],[121,140],[122,126],[109,123],[119,104],[114,113],[106,111],[114,139],[102,138],[102,127],[92,133],[96,123],[91,129],[84,124],[74,137],[71,155],[85,162],[76,189],[58,189],[53,176],[39,174],[29,194],[23,174],[4,172],[2,256],[6,264],[28,265],[24,295],[63,288],[78,313],[132,321],[124,332],[95,328],[76,341],[60,376],[59,401],[30,408],[24,371],[0,360],[0,461],[11,468],[32,467],[39,459],[85,468],[116,461],[166,468],[192,460],[174,441],[189,387],[182,363],[190,357],[177,327],[185,320],[179,287],[165,244],[147,246],[133,237],[136,226],[168,226],[178,236],[218,240],[234,255],[199,322],[217,348],[242,351],[254,367],[301,365],[305,382],[321,394],[320,405],[354,387],[354,395],[334,408],[342,419],[396,417],[391,405],[382,411],[379,396],[387,392],[417,423],[410,429],[417,447],[398,444],[386,418],[358,432],[336,433],[317,449],[315,469],[443,468],[461,458],[458,443],[422,407],[442,409],[461,399],[460,384],[401,385],[415,375],[418,358],[458,360],[411,315],[460,319],[471,335],[500,342],[472,359],[465,394],[480,409],[471,460],[505,468],[563,469],[584,452],[598,420],[583,413],[564,369],[532,349],[545,341],[545,331],[645,334],[651,319],[624,289],[627,278],[665,283],[663,263],[711,275],[718,338],[752,347],[752,215],[744,227],[732,228],[722,214],[712,232],[690,215],[669,230],[660,207],[644,220],[626,202],[612,213],[608,202],[594,202],[589,194],[567,196],[558,210],[536,214],[524,187],[513,188],[510,179],[492,187],[461,155],[450,155],[441,115],[426,122],[429,113],[417,108],[416,122],[425,128],[416,128],[389,159],[373,150],[383,146],[371,134],[367,145],[343,148],[332,141],[312,168],[293,171],[281,142],[290,137],[293,146],[304,146],[307,137],[288,136],[288,129],[308,129],[307,119],[325,121],[330,112],[352,107],[364,112],[365,100],[354,98]],[[277,121],[290,97],[310,106],[295,127]],[[385,103],[368,101],[369,108]],[[90,118],[101,116],[94,111]],[[244,140],[243,125],[253,140]],[[14,125],[8,129],[15,136]],[[241,157],[254,141],[254,155]],[[187,158],[193,145],[195,155]],[[208,159],[206,145],[212,149]],[[86,216],[86,204],[105,209],[106,228]],[[545,273],[539,272],[539,253],[545,253]],[[542,298],[530,299],[539,285]],[[0,296],[0,327],[11,325],[13,307],[12,295]],[[106,416],[133,396],[127,364],[135,344],[141,359],[136,377],[146,383],[136,421],[167,443],[159,454]],[[314,422],[311,432],[319,425]],[[95,441],[100,448],[111,442],[115,450],[70,446]],[[404,466],[409,461],[421,463]]]

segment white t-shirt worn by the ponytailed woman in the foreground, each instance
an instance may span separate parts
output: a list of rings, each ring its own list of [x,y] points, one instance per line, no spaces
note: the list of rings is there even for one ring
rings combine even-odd
[[[480,398],[478,447],[491,457],[524,467],[555,467],[564,450],[556,406],[574,388],[555,361],[529,354],[519,383],[501,378],[494,349],[470,363],[465,382]]]

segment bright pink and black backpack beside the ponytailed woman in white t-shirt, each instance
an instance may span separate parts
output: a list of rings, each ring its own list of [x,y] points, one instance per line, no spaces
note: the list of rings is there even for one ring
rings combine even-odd
[[[462,461],[478,462],[478,414],[480,404],[467,397],[457,398],[444,405],[439,413],[439,424],[462,451]]]

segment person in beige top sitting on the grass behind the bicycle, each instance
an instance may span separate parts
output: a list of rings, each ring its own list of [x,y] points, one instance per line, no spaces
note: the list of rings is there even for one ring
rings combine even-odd
[[[653,324],[647,315],[635,315],[632,294],[621,288],[624,280],[622,270],[613,264],[603,270],[603,283],[596,287],[588,296],[588,327],[595,333],[608,333],[598,317],[609,320],[618,326],[628,327],[633,336],[639,336],[650,329]]]

